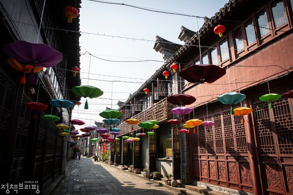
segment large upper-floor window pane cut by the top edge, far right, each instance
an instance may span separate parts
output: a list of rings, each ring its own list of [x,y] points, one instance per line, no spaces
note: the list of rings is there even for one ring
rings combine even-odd
[[[271,3],[275,27],[280,27],[287,22],[283,0],[276,0]]]

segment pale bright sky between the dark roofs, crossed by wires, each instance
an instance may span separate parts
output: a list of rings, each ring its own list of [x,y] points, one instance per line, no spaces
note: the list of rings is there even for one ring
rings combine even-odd
[[[111,2],[210,18],[224,7],[228,0],[113,0]],[[99,98],[88,98],[87,110],[84,109],[85,98],[81,98],[82,104],[74,107],[72,119],[82,120],[85,125],[75,126],[76,129],[95,126],[95,121],[102,122],[100,112],[106,107],[118,109],[118,100],[126,101],[129,94],[135,92],[163,65],[161,53],[153,49],[157,35],[168,41],[184,44],[178,39],[180,27],[184,26],[196,32],[197,20],[201,28],[204,23],[201,18],[82,0],[79,40],[82,54],[81,85],[98,87],[104,94]],[[161,62],[131,62],[141,60]]]

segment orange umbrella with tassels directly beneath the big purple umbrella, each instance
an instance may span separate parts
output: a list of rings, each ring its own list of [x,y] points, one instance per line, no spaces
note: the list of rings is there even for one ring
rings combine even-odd
[[[43,67],[40,66],[38,68],[35,68],[31,65],[22,65],[18,63],[15,59],[9,58],[7,60],[7,63],[12,66],[15,70],[23,72],[24,76],[20,79],[20,83],[25,84],[25,73],[30,73],[27,79],[27,83],[34,84],[34,73],[43,71]]]

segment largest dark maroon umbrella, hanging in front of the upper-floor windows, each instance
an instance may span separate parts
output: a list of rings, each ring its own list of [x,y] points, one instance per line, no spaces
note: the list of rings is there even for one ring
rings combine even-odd
[[[213,83],[226,74],[226,69],[212,64],[193,65],[179,75],[190,83]]]

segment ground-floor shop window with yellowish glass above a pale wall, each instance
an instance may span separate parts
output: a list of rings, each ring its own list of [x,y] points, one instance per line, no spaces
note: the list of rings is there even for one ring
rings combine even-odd
[[[172,134],[167,128],[160,129],[160,157],[172,156]]]

